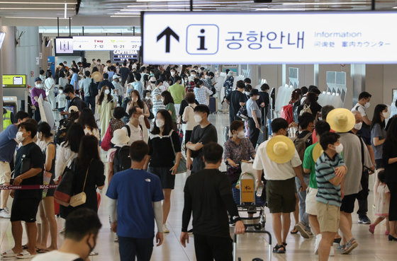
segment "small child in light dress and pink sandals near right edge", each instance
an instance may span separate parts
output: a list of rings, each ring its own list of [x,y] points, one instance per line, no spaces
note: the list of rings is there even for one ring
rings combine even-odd
[[[386,232],[385,235],[388,236],[388,231],[390,231],[388,224],[388,206],[390,204],[390,191],[386,185],[386,173],[384,170],[379,171],[378,173],[379,186],[376,195],[375,202],[375,215],[378,216],[374,221],[374,224],[369,226],[369,232],[374,233],[375,226],[381,223],[384,219],[386,219]]]

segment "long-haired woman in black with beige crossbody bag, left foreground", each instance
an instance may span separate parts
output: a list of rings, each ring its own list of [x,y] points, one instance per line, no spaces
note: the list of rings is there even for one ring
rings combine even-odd
[[[74,160],[72,194],[77,195],[85,192],[86,202],[77,207],[69,206],[69,213],[83,207],[98,211],[96,188],[99,188],[99,190],[104,188],[104,171],[104,163],[99,158],[98,139],[91,135],[85,135],[79,147],[79,154]]]

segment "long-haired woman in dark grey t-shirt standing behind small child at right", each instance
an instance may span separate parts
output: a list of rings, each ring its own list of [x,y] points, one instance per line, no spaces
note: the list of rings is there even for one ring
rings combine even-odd
[[[378,173],[384,169],[383,151],[384,142],[386,141],[386,124],[385,120],[390,117],[390,112],[384,104],[378,104],[374,108],[374,116],[371,121],[371,144],[374,148],[375,156],[375,183],[374,183],[374,202],[376,202],[376,195],[378,195],[379,179]]]

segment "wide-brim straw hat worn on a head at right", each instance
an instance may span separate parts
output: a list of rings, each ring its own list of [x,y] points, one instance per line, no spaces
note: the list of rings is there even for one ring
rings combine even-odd
[[[356,124],[356,118],[350,110],[337,108],[328,113],[327,122],[335,132],[350,132]]]

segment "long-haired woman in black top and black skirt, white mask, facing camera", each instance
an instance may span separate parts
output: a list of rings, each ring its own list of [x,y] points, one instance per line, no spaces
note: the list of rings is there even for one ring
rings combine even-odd
[[[181,144],[179,135],[174,132],[174,122],[167,110],[159,110],[149,137],[149,158],[145,167],[149,165],[148,171],[157,175],[162,182],[164,192],[163,228],[168,233],[166,222],[171,207],[171,192],[175,186],[175,174],[181,160]],[[146,169],[145,168],[145,169]]]

